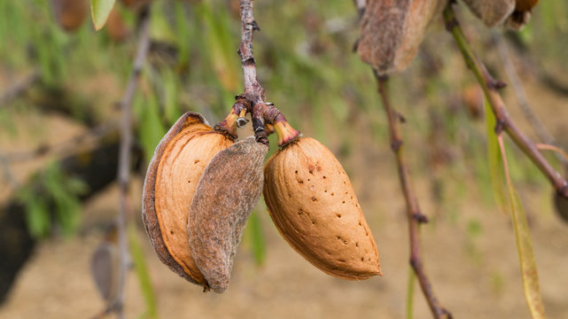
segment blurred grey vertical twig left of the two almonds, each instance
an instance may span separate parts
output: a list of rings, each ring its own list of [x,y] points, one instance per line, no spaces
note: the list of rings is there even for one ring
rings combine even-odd
[[[109,307],[116,309],[117,316],[119,318],[124,316],[122,312],[122,304],[124,302],[124,282],[130,263],[128,257],[126,225],[128,215],[133,215],[132,206],[130,205],[130,202],[128,200],[128,183],[130,181],[130,152],[133,139],[131,105],[132,98],[134,97],[134,92],[136,91],[138,78],[142,73],[142,67],[144,66],[144,61],[150,48],[150,8],[150,5],[146,4],[144,8],[139,12],[138,18],[140,29],[138,47],[136,50],[136,59],[134,60],[134,65],[128,78],[127,89],[125,90],[124,96],[121,99],[121,144],[117,175],[120,190],[120,209],[119,214],[117,215],[117,225],[119,248],[121,252],[121,270],[118,279],[119,295],[115,301],[115,305],[109,305]]]

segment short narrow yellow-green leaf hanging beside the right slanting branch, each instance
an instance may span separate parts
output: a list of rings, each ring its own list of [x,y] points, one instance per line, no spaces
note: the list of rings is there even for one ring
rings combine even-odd
[[[489,163],[489,172],[491,175],[491,185],[497,206],[504,214],[510,212],[507,197],[505,195],[506,185],[504,182],[504,174],[502,167],[501,152],[499,152],[499,141],[495,135],[495,125],[497,121],[491,107],[486,105],[486,136],[487,136],[487,162]]]

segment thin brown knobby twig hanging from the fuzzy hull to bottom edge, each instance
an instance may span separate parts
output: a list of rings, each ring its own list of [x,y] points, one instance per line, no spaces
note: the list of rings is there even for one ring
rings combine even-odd
[[[396,113],[391,106],[387,90],[388,79],[385,76],[378,75],[377,73],[375,73],[375,76],[377,78],[378,93],[381,96],[386,117],[388,119],[391,149],[396,156],[401,189],[407,206],[410,266],[412,266],[416,273],[416,277],[418,278],[418,282],[420,283],[420,287],[422,288],[422,292],[424,293],[424,297],[428,302],[428,306],[430,307],[434,318],[451,318],[452,315],[441,306],[440,301],[434,294],[432,284],[424,271],[420,251],[419,229],[420,223],[427,222],[427,218],[420,211],[420,206],[418,206],[418,200],[416,199],[416,193],[412,188],[412,183],[410,181],[410,172],[404,152],[405,147],[401,137],[401,129],[399,127],[401,116]]]

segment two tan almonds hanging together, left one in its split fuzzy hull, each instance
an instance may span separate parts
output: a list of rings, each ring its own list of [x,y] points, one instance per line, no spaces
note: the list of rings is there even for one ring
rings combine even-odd
[[[274,123],[282,149],[263,168],[268,146],[253,136],[235,142],[186,113],[164,136],[144,181],[143,221],[160,261],[179,276],[224,292],[237,245],[256,202],[264,198],[292,248],[331,276],[380,274],[377,245],[353,186],[323,144],[287,122]]]

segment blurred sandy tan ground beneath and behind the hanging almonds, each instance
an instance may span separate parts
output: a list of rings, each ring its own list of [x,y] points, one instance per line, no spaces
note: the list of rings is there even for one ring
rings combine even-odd
[[[540,106],[535,111],[556,136],[565,133],[565,98],[554,97],[534,83],[527,84],[529,96],[539,97]],[[511,98],[508,103],[513,115],[523,123]],[[558,116],[559,113],[564,115]],[[51,126],[59,133],[71,134],[77,130],[57,118],[46,123],[47,131],[51,131]],[[523,127],[530,131],[525,125]],[[245,238],[237,253],[229,290],[222,295],[203,293],[200,287],[186,283],[158,261],[139,227],[160,317],[404,317],[408,284],[404,204],[393,156],[386,143],[369,147],[377,142],[371,140],[368,130],[362,128],[353,142],[354,155],[343,162],[377,240],[383,277],[349,282],[323,274],[294,253],[279,237],[268,214],[261,214],[268,247],[264,264],[261,267],[255,265]],[[6,145],[4,143],[4,149]],[[337,145],[330,146],[337,151],[334,149]],[[415,163],[421,160],[412,150],[408,154]],[[135,203],[139,202],[141,183],[136,179],[132,187]],[[455,318],[529,318],[510,218],[494,206],[483,204],[477,186],[471,185],[454,212],[441,214],[440,206],[432,202],[427,176],[415,172],[415,184],[424,212],[434,216],[422,232],[423,247],[426,269],[442,304]],[[527,186],[519,191],[533,231],[547,315],[549,318],[566,318],[568,225],[553,214],[549,187],[534,189]],[[112,187],[89,201],[84,209],[80,235],[51,239],[39,245],[20,273],[9,300],[0,307],[0,318],[65,319],[89,318],[97,314],[103,303],[89,275],[89,259],[103,236],[102,225],[113,218],[117,203],[117,191]],[[134,272],[128,276],[126,296],[128,318],[141,315],[144,300]],[[431,317],[417,285],[415,317]]]

